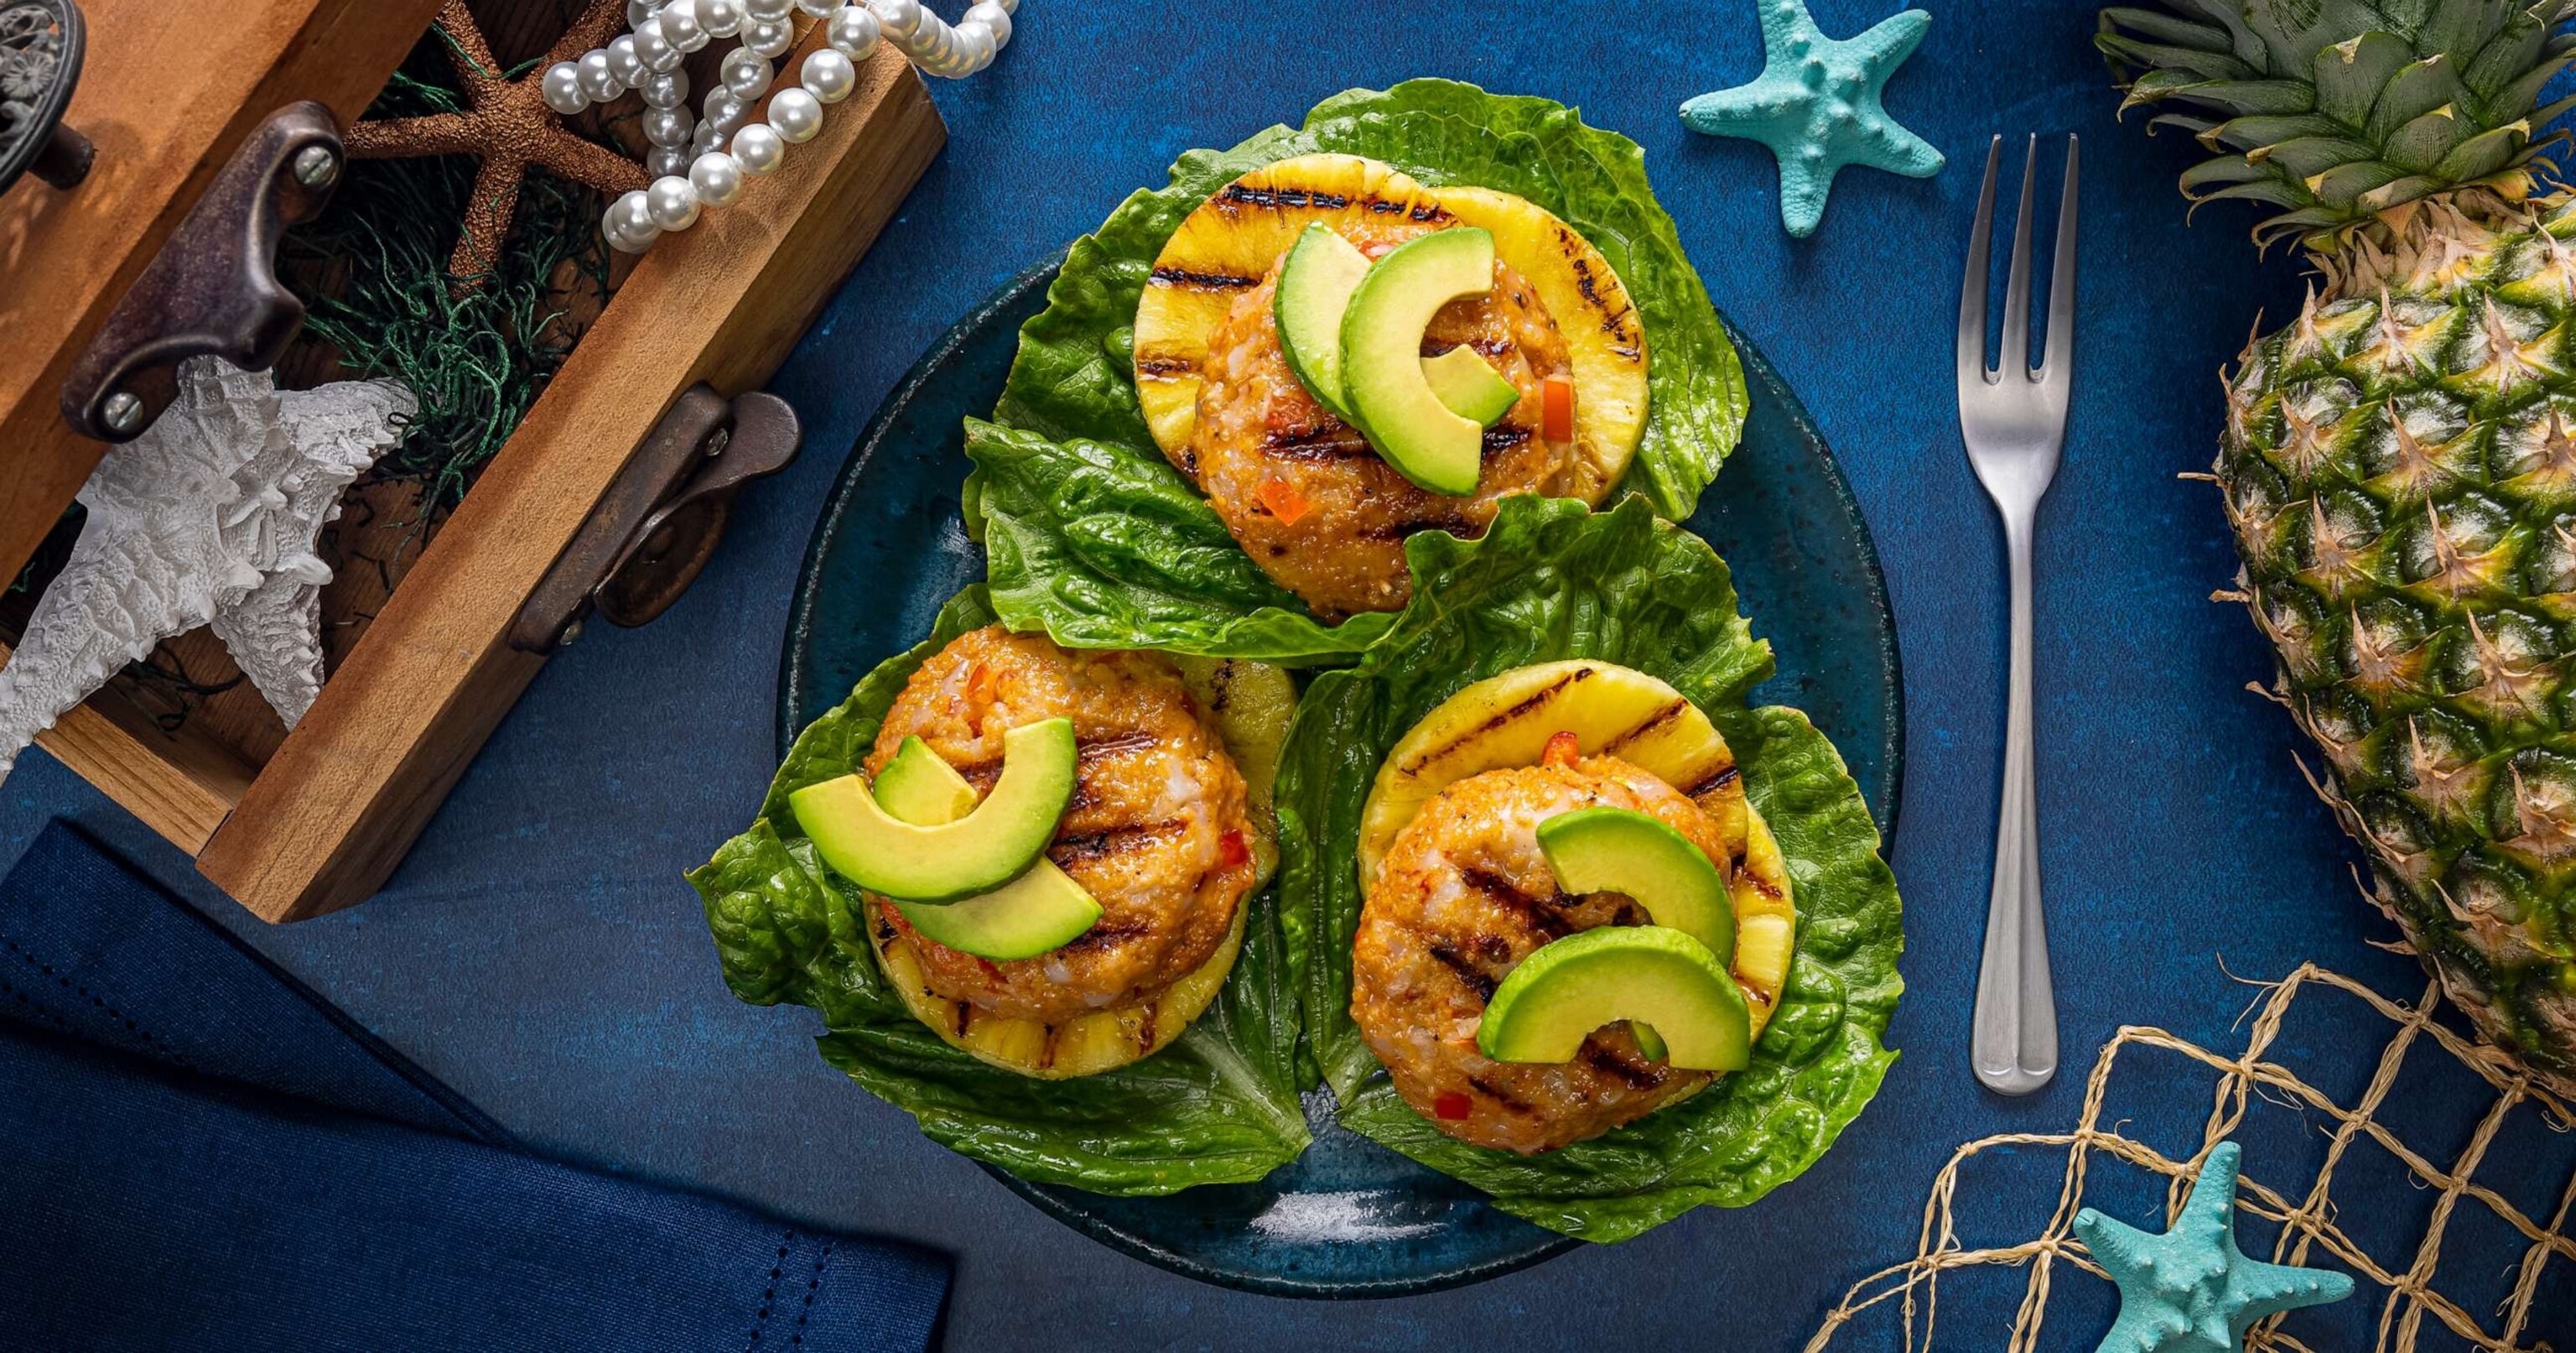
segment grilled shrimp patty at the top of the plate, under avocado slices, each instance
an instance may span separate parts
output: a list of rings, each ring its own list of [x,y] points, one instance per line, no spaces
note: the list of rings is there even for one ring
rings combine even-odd
[[[1368,237],[1352,242],[1376,258],[1425,232],[1404,219],[1370,222]],[[1504,495],[1566,492],[1574,443],[1543,436],[1540,381],[1571,381],[1574,366],[1538,291],[1510,265],[1494,260],[1494,289],[1440,307],[1422,335],[1422,356],[1463,343],[1520,387],[1512,412],[1484,430],[1473,497],[1414,487],[1358,428],[1314,402],[1280,350],[1270,304],[1278,281],[1273,263],[1208,335],[1198,425],[1172,461],[1198,479],[1262,572],[1319,616],[1399,611],[1412,593],[1404,539],[1414,531],[1479,536]]]

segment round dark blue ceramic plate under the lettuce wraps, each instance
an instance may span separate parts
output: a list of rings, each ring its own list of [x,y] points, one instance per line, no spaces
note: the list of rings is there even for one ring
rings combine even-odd
[[[796,582],[778,673],[781,758],[809,719],[920,642],[940,603],[984,577],[984,552],[958,515],[958,423],[999,399],[1020,322],[1046,307],[1054,276],[1051,263],[1018,276],[948,330],[850,451]],[[1690,528],[1734,564],[1754,634],[1780,660],[1757,704],[1793,704],[1832,734],[1888,832],[1904,691],[1878,549],[1798,397],[1734,325],[1728,335],[1744,353],[1752,415]],[[1103,1245],[1285,1296],[1401,1296],[1494,1278],[1577,1245],[1342,1131],[1321,1090],[1306,1095],[1306,1118],[1314,1147],[1260,1183],[1108,1198],[994,1175]]]

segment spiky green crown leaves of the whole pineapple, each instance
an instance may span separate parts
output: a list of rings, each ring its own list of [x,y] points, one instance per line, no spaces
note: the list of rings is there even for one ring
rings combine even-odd
[[[2543,106],[2568,62],[2576,0],[2164,0],[2102,10],[2094,46],[2154,126],[2215,157],[2182,196],[2282,211],[2257,245],[2331,250],[2406,204],[2481,188],[2519,204],[2537,137],[2576,98]],[[2540,160],[2545,168],[2545,160]]]

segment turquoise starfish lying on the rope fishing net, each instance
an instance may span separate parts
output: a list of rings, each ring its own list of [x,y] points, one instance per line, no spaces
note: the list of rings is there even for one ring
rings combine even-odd
[[[2257,1263],[2236,1250],[2236,1142],[2221,1142],[2164,1234],[2094,1209],[2076,1214],[2076,1237],[2120,1283],[2120,1319],[2097,1353],[2236,1353],[2267,1314],[2352,1296],[2349,1273]]]

